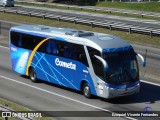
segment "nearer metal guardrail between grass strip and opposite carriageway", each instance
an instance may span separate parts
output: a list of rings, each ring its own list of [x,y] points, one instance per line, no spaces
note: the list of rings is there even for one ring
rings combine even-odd
[[[100,26],[105,27],[110,30],[118,29],[122,31],[128,31],[129,33],[136,32],[140,34],[148,34],[150,37],[152,36],[160,36],[160,28],[152,28],[152,27],[146,27],[146,26],[139,26],[139,25],[132,25],[122,22],[115,22],[110,20],[99,20],[89,17],[77,17],[74,15],[66,15],[66,14],[60,14],[60,13],[54,13],[54,12],[40,12],[37,11],[37,9],[29,10],[29,9],[14,9],[14,8],[0,8],[0,12],[3,13],[13,13],[13,14],[20,14],[20,15],[27,15],[29,17],[35,16],[35,17],[42,17],[44,19],[56,19],[58,21],[69,21],[73,22],[74,24],[87,24],[91,25],[91,27],[94,26]]]

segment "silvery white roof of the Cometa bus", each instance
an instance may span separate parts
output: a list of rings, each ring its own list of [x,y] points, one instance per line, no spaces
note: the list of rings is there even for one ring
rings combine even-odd
[[[33,35],[41,34],[51,38],[61,37],[64,38],[66,41],[74,43],[83,42],[83,44],[91,47],[94,46],[94,48],[97,48],[101,51],[104,49],[131,47],[131,45],[127,41],[113,35],[90,31],[81,31],[70,28],[56,28],[43,25],[22,25],[12,27],[11,31],[13,30]]]

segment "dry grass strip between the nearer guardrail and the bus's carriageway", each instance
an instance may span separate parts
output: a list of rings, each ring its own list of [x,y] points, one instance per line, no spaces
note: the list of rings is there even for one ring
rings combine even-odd
[[[42,24],[54,27],[65,27],[65,28],[75,28],[79,30],[87,30],[87,31],[94,31],[94,32],[101,32],[106,34],[112,34],[118,36],[122,39],[125,39],[129,42],[139,42],[139,43],[147,43],[152,45],[160,46],[160,37],[152,37],[150,38],[149,35],[142,35],[137,33],[123,32],[123,31],[116,31],[116,30],[108,30],[106,28],[94,27],[91,28],[87,25],[80,25],[80,24],[73,24],[70,22],[58,22],[56,20],[49,20],[49,19],[42,19],[37,17],[28,17],[24,15],[15,15],[9,13],[0,13],[0,20],[12,20],[15,22],[23,22],[23,23],[31,23],[31,24]]]

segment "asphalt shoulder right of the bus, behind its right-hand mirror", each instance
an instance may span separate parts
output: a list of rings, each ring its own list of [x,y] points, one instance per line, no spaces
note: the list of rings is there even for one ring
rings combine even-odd
[[[141,77],[147,78],[148,81],[158,82],[160,80],[160,48],[156,46],[147,46],[145,44],[132,44],[137,53],[145,56],[145,51],[147,49],[146,56],[146,67],[141,67],[141,61],[139,60],[139,68]]]

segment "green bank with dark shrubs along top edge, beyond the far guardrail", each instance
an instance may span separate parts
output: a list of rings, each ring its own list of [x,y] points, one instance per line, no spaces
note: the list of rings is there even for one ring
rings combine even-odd
[[[35,0],[35,1],[74,4],[74,5],[92,5],[99,7],[140,10],[146,12],[160,12],[160,7],[159,7],[160,2],[158,2],[158,0],[154,0],[154,2],[112,2],[112,0],[107,0],[107,2],[104,2],[105,0],[99,0],[100,2],[97,2],[98,0]]]

